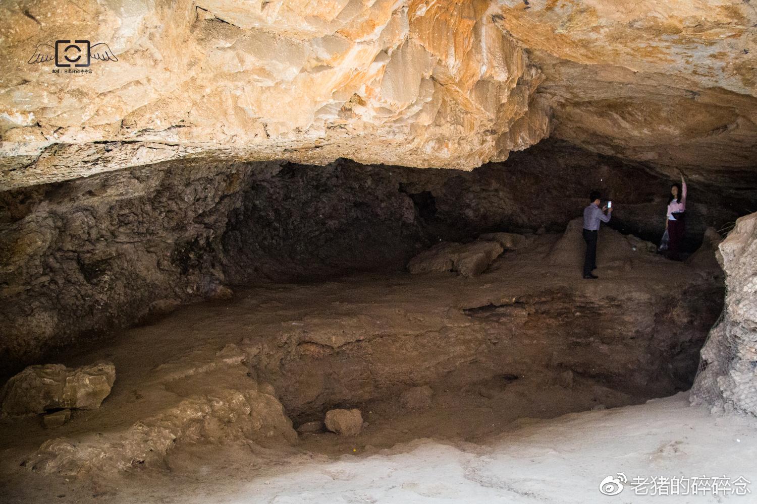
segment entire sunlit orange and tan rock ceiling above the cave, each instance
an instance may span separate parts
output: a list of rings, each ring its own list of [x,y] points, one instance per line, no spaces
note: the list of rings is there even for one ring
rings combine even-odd
[[[550,135],[744,172],[755,26],[749,0],[2,2],[0,190],[188,156],[472,169]]]

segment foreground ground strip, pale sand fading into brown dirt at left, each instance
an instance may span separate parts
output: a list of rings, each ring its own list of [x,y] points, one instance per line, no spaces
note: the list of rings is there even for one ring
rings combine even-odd
[[[290,450],[188,445],[164,467],[106,487],[38,481],[11,489],[6,502],[754,502],[755,427],[753,420],[690,407],[681,393],[637,406],[524,418],[478,443],[419,438],[376,449],[366,442],[380,440],[380,430],[369,428],[349,442],[308,435]],[[323,443],[332,445],[330,454],[319,452]],[[752,493],[641,496],[627,485],[618,496],[600,494],[600,481],[617,472],[629,481],[743,476]]]

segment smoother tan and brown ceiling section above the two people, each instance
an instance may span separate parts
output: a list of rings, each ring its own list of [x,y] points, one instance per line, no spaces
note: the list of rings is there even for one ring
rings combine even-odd
[[[497,2],[544,73],[553,135],[658,165],[739,167],[757,153],[757,11],[727,0]]]

